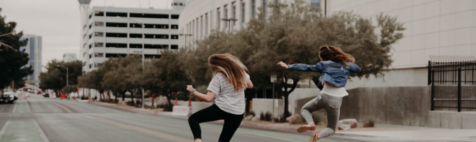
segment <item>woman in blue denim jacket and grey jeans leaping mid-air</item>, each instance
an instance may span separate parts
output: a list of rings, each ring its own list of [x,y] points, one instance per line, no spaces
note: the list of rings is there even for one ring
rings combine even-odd
[[[302,133],[307,130],[316,130],[316,124],[312,119],[311,113],[321,108],[327,111],[327,128],[320,133],[312,133],[309,142],[314,142],[320,138],[333,135],[337,129],[337,121],[339,120],[340,105],[342,98],[348,93],[344,86],[346,86],[349,72],[358,73],[360,67],[355,64],[355,58],[347,53],[344,53],[340,48],[334,46],[322,46],[319,52],[321,62],[315,65],[308,64],[286,64],[279,62],[283,68],[294,71],[314,71],[320,72],[321,78],[319,84],[323,84],[324,88],[320,94],[307,102],[301,109],[301,114],[306,119],[307,124],[297,128],[297,132]]]

